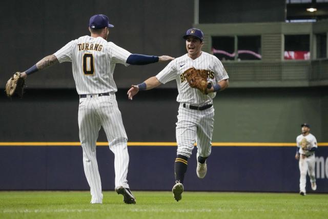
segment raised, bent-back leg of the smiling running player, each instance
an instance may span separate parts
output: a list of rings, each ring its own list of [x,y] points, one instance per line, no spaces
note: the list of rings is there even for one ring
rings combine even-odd
[[[204,178],[207,173],[206,159],[211,154],[212,135],[214,128],[214,108],[199,111],[197,127],[197,168],[198,178]]]

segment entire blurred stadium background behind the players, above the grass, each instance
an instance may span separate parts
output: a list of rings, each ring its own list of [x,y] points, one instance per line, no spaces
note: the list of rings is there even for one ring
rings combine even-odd
[[[208,175],[198,180],[191,157],[186,190],[298,192],[295,140],[306,122],[319,143],[316,192],[328,192],[327,0],[4,0],[0,10],[3,89],[13,72],[89,34],[93,14],[108,15],[115,25],[109,41],[132,53],[178,57],[186,52],[185,31],[202,29],[203,51],[220,58],[230,87],[214,99]],[[171,190],[174,183],[175,82],[141,92],[133,102],[126,96],[131,84],[165,66],[115,69],[132,190]],[[23,99],[0,95],[0,190],[88,190],[70,64],[30,76],[27,86]],[[113,155],[106,141],[100,131],[99,171],[103,189],[113,190]]]

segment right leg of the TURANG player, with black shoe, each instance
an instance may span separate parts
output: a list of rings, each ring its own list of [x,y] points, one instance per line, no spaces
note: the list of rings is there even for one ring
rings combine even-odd
[[[125,203],[135,204],[135,197],[129,189],[127,180],[129,167],[128,137],[115,95],[101,96],[98,100],[101,125],[105,130],[109,148],[115,156],[115,190],[124,196]]]

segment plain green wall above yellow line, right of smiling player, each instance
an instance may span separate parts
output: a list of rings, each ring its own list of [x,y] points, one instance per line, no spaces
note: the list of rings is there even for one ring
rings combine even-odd
[[[328,141],[327,88],[227,89],[215,98],[213,142],[294,142],[303,122]]]

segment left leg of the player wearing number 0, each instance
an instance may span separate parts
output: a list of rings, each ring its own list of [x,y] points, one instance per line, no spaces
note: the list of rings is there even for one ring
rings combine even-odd
[[[96,158],[96,141],[100,129],[94,101],[87,98],[80,99],[78,108],[79,138],[83,149],[84,172],[91,192],[91,203],[102,203],[101,182]]]

